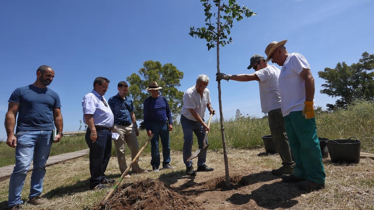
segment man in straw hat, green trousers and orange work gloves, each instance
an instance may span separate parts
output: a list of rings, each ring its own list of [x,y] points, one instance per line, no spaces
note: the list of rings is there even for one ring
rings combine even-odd
[[[266,62],[282,67],[279,75],[282,114],[295,167],[291,175],[282,175],[285,182],[299,182],[304,190],[325,187],[325,170],[317,137],[314,99],[314,78],[310,65],[300,53],[288,53],[287,40],[273,41],[266,49]]]

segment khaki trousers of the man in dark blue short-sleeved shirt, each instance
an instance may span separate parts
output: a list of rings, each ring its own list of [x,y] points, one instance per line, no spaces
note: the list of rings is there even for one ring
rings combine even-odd
[[[134,160],[135,156],[139,152],[139,144],[137,135],[135,133],[135,127],[129,126],[120,126],[114,124],[113,132],[119,134],[118,139],[114,139],[114,146],[117,151],[117,160],[118,166],[121,173],[125,172],[127,169],[126,157],[125,157],[125,142],[127,143],[128,148],[131,151],[131,160]],[[138,160],[132,164],[132,170],[139,169]]]

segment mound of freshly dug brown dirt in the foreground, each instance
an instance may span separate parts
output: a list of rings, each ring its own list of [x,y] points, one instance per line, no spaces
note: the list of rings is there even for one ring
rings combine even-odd
[[[203,209],[193,200],[180,195],[168,184],[145,179],[122,185],[107,203],[107,209]],[[105,207],[104,207],[105,208]]]

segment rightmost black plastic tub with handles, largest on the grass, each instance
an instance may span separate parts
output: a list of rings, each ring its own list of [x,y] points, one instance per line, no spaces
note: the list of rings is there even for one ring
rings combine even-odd
[[[331,161],[334,163],[358,163],[360,161],[361,141],[356,137],[326,141]]]

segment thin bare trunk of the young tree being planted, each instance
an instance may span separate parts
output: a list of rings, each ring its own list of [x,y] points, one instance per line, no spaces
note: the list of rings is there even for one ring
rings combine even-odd
[[[217,16],[217,73],[220,73],[220,9],[221,0],[218,1],[218,16]],[[222,112],[222,101],[221,101],[221,81],[218,81],[218,103],[220,105],[220,122],[221,122],[221,135],[222,135],[222,146],[223,146],[223,158],[225,161],[225,172],[226,172],[226,187],[230,186],[230,175],[229,175],[229,161],[227,160],[226,152],[226,140],[225,140],[225,128],[223,125],[223,112]]]

